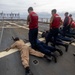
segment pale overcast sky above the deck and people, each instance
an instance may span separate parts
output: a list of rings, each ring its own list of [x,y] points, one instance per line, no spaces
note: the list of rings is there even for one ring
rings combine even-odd
[[[75,0],[0,0],[0,12],[27,13],[32,6],[36,12],[48,12],[57,9],[58,12],[74,12]]]

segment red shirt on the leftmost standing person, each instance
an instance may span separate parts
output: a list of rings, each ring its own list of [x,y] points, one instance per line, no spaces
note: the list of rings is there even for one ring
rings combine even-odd
[[[38,15],[35,12],[29,14],[31,22],[29,23],[29,29],[38,28]]]

